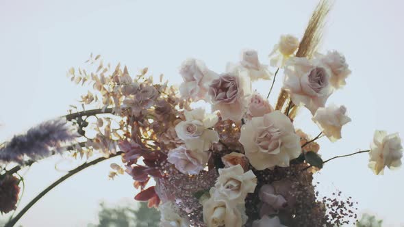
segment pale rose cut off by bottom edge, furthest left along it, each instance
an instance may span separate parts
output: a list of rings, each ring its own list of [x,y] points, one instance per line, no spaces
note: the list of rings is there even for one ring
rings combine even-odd
[[[190,222],[187,218],[179,216],[175,212],[173,202],[165,202],[159,206],[161,219],[160,226],[162,227],[189,227]]]

